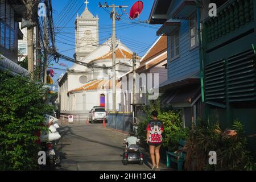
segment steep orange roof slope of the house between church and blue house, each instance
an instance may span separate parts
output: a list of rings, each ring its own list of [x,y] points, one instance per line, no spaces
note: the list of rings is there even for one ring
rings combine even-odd
[[[163,53],[167,50],[167,36],[162,36],[158,42],[155,44],[154,47],[151,48],[150,52],[147,53],[145,57],[141,60],[142,62],[145,62],[152,57],[160,55],[160,53]]]

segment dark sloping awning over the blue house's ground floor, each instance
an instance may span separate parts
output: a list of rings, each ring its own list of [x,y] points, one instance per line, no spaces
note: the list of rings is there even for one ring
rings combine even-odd
[[[201,94],[200,85],[186,86],[183,88],[167,91],[163,94],[161,104],[189,104],[198,100]]]

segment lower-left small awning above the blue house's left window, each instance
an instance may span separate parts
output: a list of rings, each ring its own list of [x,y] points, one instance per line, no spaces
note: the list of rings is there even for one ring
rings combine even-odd
[[[165,22],[162,27],[156,32],[156,35],[170,35],[172,31],[175,30],[176,27],[180,26],[180,20],[169,19]]]

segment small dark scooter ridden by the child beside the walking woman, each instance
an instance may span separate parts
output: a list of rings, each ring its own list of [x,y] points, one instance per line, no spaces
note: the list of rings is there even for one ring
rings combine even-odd
[[[131,144],[127,146],[128,143],[126,139],[123,139],[123,144],[126,144],[127,151],[123,153],[123,165],[127,165],[129,162],[139,163],[139,165],[143,165],[144,155],[141,151],[139,151],[139,142],[137,144]]]

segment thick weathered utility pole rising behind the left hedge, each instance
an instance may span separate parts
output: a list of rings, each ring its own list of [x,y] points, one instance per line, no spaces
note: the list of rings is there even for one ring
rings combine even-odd
[[[27,68],[31,74],[31,78],[34,78],[34,44],[33,44],[33,22],[32,22],[32,0],[27,1],[27,15],[30,25],[27,27]]]

